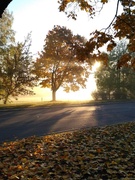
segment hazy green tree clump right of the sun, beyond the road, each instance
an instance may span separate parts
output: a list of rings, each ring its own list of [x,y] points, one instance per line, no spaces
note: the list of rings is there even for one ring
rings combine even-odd
[[[127,42],[121,41],[109,54],[108,66],[99,68],[95,74],[98,92],[93,93],[93,97],[102,98],[106,94],[106,99],[127,99],[135,98],[135,74],[129,67],[117,69],[117,61],[127,53]]]

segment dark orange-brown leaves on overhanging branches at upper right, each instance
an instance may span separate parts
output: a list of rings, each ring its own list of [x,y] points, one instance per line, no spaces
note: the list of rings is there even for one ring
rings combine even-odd
[[[90,17],[94,18],[96,15],[97,9],[98,12],[103,9],[105,4],[109,3],[109,0],[96,0],[96,1],[87,1],[87,0],[59,0],[60,11],[65,11],[68,17],[72,17],[76,20],[77,13],[76,9],[86,11],[89,13]],[[116,1],[116,12],[114,18],[106,27],[101,31],[96,30],[91,33],[91,38],[86,46],[86,54],[90,54],[97,50],[98,53],[95,54],[97,59],[104,61],[105,58],[100,58],[101,52],[99,48],[107,45],[107,50],[111,51],[115,46],[115,39],[126,38],[128,43],[128,53],[123,54],[118,61],[118,68],[122,66],[128,66],[135,69],[135,1],[134,0],[117,0]],[[123,6],[123,12],[118,15],[119,5]],[[99,8],[99,6],[101,8]],[[110,33],[112,31],[112,33]],[[82,49],[82,52],[84,49]]]

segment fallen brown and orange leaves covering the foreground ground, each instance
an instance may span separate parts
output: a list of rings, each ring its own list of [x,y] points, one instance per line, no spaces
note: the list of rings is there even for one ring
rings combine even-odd
[[[135,179],[135,122],[0,146],[0,180]]]

